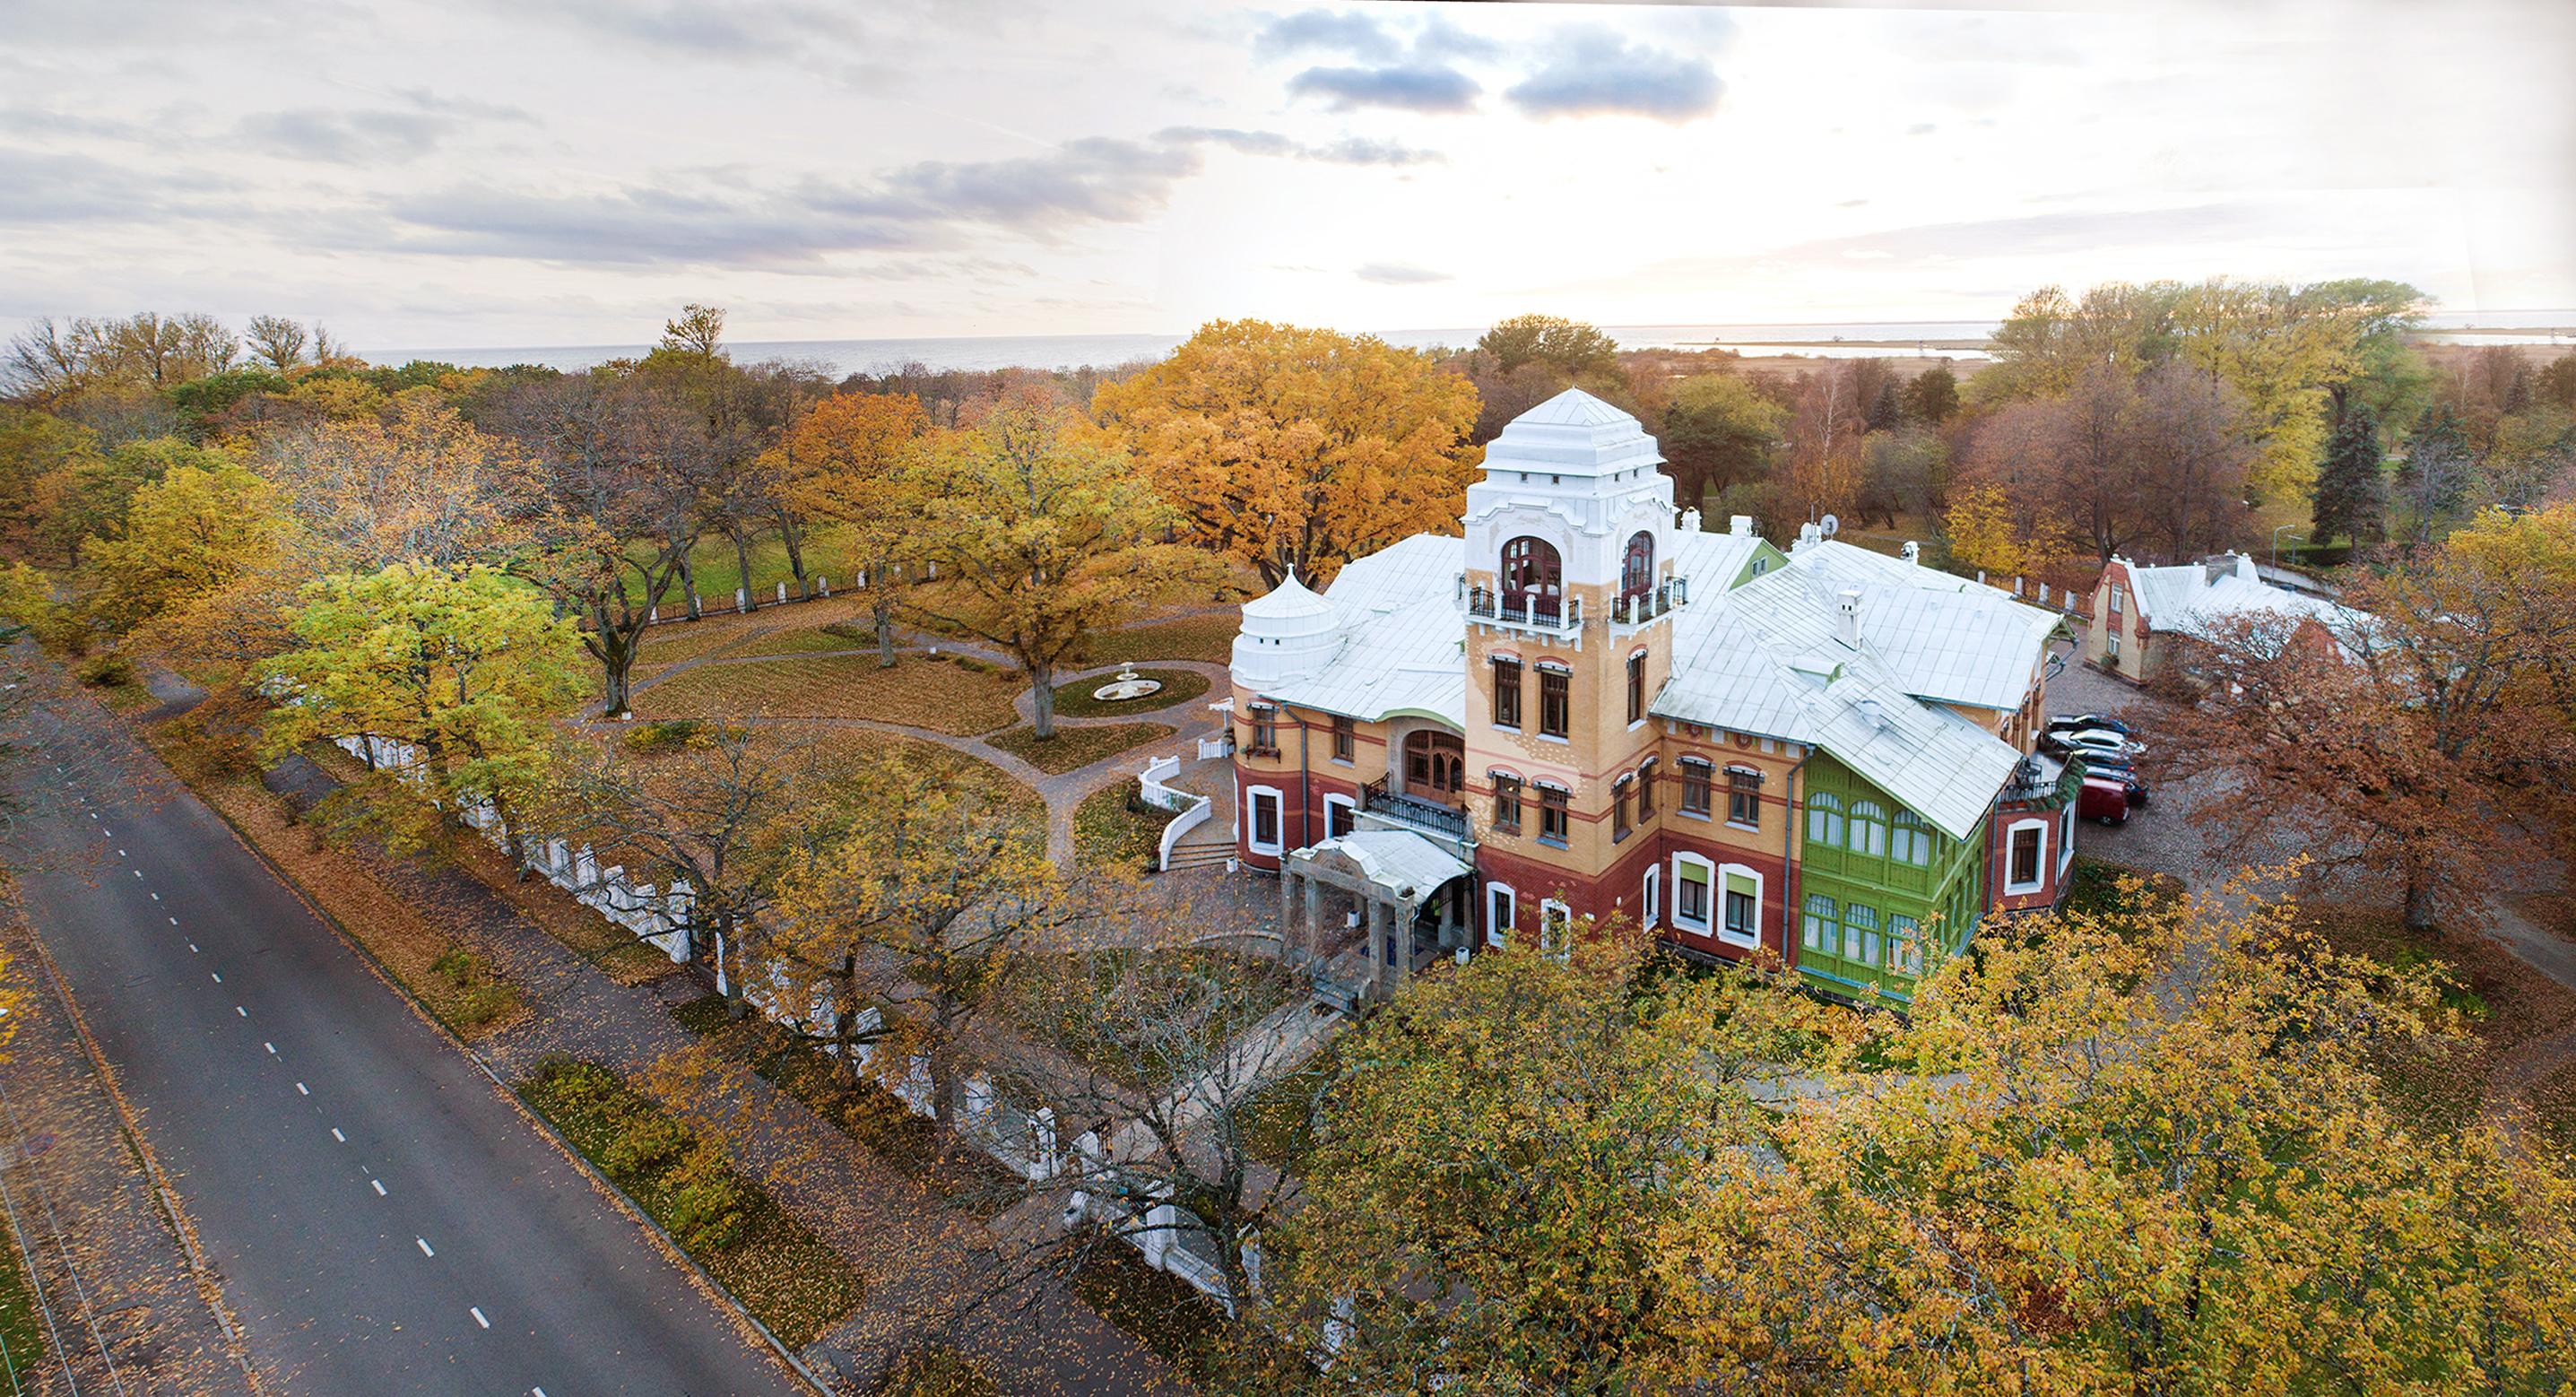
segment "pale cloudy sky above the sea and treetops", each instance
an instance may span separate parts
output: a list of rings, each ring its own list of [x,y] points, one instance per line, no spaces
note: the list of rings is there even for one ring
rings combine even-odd
[[[0,0],[0,330],[358,348],[2576,307],[2576,5]]]

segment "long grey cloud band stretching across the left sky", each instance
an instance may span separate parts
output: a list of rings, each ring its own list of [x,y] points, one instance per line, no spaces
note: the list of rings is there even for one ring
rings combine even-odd
[[[592,193],[456,186],[384,206],[392,250],[546,263],[744,263],[817,268],[832,253],[940,253],[976,232],[1054,242],[1082,224],[1136,224],[1200,170],[1198,149],[1064,142],[1015,160],[925,160],[868,183],[757,188],[721,173]],[[381,229],[353,219],[340,242]]]

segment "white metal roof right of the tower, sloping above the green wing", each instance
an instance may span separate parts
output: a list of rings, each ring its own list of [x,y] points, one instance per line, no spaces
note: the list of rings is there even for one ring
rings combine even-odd
[[[1654,714],[1824,747],[1953,838],[1968,838],[2022,753],[1914,698],[1878,655],[1837,637],[1826,580],[1780,570],[1682,611]]]

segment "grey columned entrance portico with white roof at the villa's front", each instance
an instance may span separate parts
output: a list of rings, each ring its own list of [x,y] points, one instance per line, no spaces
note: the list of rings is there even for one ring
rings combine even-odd
[[[1363,995],[1383,1000],[1414,972],[1414,915],[1468,866],[1404,830],[1360,830],[1301,848],[1280,861],[1280,941],[1291,964],[1321,974],[1334,956],[1324,928],[1324,889],[1360,910]]]

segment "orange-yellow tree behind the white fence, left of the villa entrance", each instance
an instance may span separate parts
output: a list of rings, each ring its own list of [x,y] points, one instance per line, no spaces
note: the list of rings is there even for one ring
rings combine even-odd
[[[889,758],[850,776],[848,802],[868,817],[786,866],[760,956],[850,1088],[858,1046],[878,1044],[920,1059],[940,1119],[956,1119],[971,1028],[1025,956],[1074,936],[1082,902],[1046,858],[1043,825],[974,784]]]

